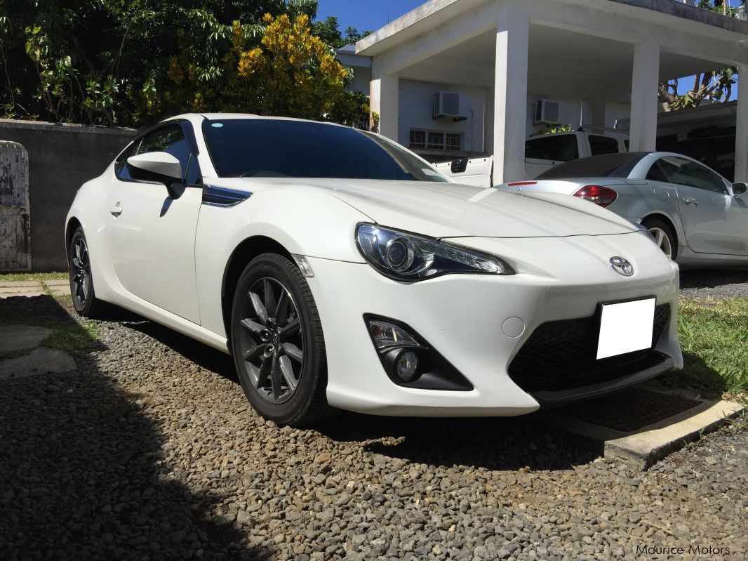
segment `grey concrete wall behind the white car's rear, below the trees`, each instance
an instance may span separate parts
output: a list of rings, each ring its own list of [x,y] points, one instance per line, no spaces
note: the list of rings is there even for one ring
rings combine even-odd
[[[28,150],[31,268],[65,271],[65,217],[78,188],[98,176],[135,135],[132,129],[0,119],[0,140]]]

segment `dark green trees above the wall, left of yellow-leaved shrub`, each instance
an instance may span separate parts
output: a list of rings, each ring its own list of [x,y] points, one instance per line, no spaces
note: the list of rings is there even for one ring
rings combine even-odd
[[[194,109],[249,110],[240,94],[251,85],[236,89],[237,37],[251,51],[266,13],[295,21],[316,10],[316,0],[0,0],[0,116],[143,126]],[[307,64],[312,72],[317,59]]]

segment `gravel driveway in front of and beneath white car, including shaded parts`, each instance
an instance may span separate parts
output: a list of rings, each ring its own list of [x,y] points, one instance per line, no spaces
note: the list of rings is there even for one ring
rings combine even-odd
[[[221,353],[137,318],[100,327],[78,372],[0,382],[4,560],[748,556],[744,420],[645,473],[533,417],[280,429]],[[713,549],[637,554],[678,546]]]

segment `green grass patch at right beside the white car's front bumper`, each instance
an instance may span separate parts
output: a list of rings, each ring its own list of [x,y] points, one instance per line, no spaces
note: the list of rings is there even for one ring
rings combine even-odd
[[[748,396],[748,298],[681,300],[678,337],[684,369],[663,377],[705,397]]]

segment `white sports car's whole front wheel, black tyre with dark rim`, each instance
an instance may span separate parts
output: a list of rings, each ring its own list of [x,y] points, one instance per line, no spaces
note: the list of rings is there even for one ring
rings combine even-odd
[[[333,411],[322,323],[304,275],[286,257],[261,254],[242,272],[231,350],[242,389],[264,418],[300,427]]]

